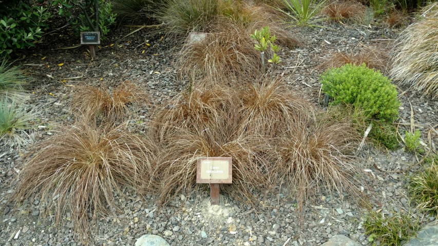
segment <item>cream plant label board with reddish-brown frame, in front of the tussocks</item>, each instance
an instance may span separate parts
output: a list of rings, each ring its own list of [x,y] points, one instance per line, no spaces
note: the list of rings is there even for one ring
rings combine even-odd
[[[231,157],[204,157],[198,159],[197,183],[232,183]]]

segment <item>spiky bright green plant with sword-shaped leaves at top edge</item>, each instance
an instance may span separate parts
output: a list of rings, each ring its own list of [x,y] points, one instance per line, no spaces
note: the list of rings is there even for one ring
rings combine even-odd
[[[277,8],[280,12],[293,19],[293,24],[299,27],[321,27],[315,25],[325,18],[316,18],[321,10],[326,6],[327,0],[282,0],[288,12]]]

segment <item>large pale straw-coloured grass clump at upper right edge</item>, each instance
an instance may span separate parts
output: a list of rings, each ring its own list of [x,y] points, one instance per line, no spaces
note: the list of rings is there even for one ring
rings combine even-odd
[[[397,38],[391,77],[425,95],[438,95],[438,3],[424,8],[421,18]]]

